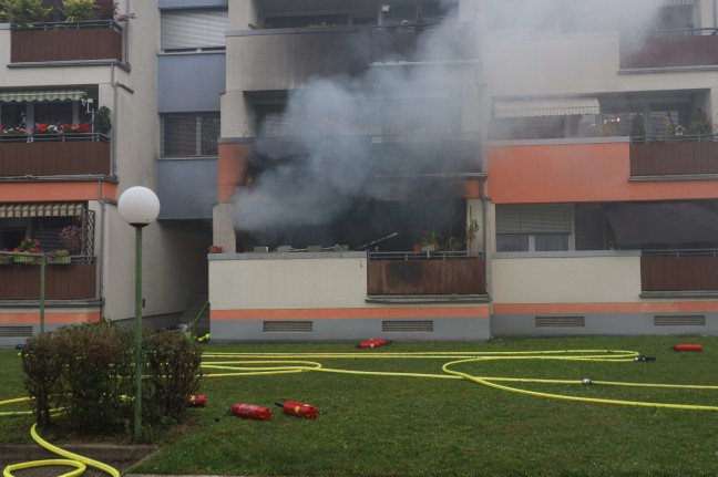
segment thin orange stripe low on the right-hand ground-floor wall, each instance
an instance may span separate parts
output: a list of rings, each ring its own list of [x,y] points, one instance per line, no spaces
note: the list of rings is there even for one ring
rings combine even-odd
[[[643,303],[494,303],[493,314],[547,313],[705,313],[718,311],[718,301]]]

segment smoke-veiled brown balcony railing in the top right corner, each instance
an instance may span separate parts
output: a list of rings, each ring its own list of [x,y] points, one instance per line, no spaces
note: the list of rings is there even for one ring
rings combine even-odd
[[[622,70],[718,64],[716,29],[671,30],[620,38]]]

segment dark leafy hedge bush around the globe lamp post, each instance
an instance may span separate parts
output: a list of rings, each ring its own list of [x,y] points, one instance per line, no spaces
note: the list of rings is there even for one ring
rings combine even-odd
[[[177,423],[202,377],[202,351],[177,332],[144,330],[143,429]],[[21,351],[25,390],[38,424],[79,434],[115,434],[134,415],[134,334],[101,321],[63,326],[30,340]]]

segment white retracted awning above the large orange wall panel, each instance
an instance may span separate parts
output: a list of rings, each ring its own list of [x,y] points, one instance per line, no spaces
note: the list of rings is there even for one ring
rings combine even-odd
[[[538,97],[522,100],[494,100],[494,117],[570,116],[598,114],[596,97]]]

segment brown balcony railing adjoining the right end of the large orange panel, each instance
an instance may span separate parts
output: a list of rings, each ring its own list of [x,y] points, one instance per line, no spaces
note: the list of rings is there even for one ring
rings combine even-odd
[[[630,176],[718,174],[718,136],[632,138]]]

